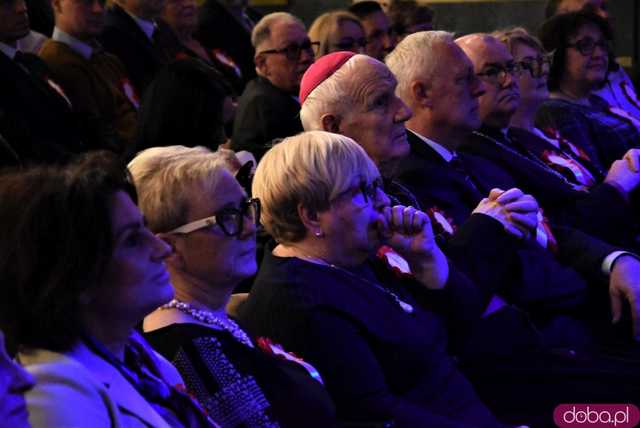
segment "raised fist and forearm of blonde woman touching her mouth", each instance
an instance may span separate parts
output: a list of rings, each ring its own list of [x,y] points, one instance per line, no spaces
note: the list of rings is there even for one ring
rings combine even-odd
[[[382,241],[404,257],[425,287],[444,287],[449,277],[447,259],[435,242],[429,216],[413,207],[385,207],[379,225]]]

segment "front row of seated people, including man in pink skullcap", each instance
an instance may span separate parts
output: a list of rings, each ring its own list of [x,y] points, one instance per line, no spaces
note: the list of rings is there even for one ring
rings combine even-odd
[[[554,39],[564,43],[554,55],[588,76],[568,79],[575,67],[566,66],[559,84],[579,82],[588,98],[606,76],[606,26],[582,13],[549,25],[561,24],[566,40]],[[260,202],[229,176],[240,163],[224,151],[139,154],[129,169],[155,237],[113,159],[3,177],[3,236],[38,248],[5,246],[0,257],[13,284],[1,326],[37,382],[26,394],[29,422],[544,426],[562,402],[633,400],[633,134],[618,133],[626,146],[614,145],[616,156],[604,141],[540,131],[534,116],[558,63],[549,68],[523,30],[494,36],[418,33],[388,67],[345,52],[318,60],[302,77],[301,120],[333,134],[269,150],[253,182]],[[598,114],[615,117],[587,111],[594,129]],[[111,217],[87,217],[96,211]],[[238,325],[224,308],[256,270],[258,218],[277,244]],[[137,236],[117,233],[132,225]],[[98,232],[102,243],[89,245],[99,248],[83,247]],[[42,242],[56,257],[38,253]],[[184,380],[132,334],[149,313],[143,329]],[[182,383],[214,422],[170,388]]]

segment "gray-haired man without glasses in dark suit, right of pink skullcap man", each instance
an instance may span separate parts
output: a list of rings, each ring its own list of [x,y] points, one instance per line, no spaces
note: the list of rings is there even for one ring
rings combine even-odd
[[[416,52],[421,60],[410,63]],[[399,96],[414,110],[407,122],[411,154],[402,161],[400,180],[418,200],[448,209],[457,221],[464,221],[482,194],[515,185],[513,177],[492,162],[458,153],[460,144],[480,126],[478,97],[486,89],[450,34],[409,36],[390,54],[387,64],[398,78]],[[504,278],[507,293],[515,287],[515,295],[514,291],[508,294],[512,301],[535,318],[552,314],[554,310],[549,309],[556,304],[562,309],[555,315],[573,305],[577,308],[584,300],[576,297],[595,293],[600,298],[595,304],[600,319],[611,319],[601,296],[606,295],[606,287],[590,291],[586,284],[595,285],[608,276],[614,319],[620,318],[625,299],[632,305],[634,321],[640,319],[636,305],[640,262],[635,257],[576,230],[552,228],[546,221],[541,226],[535,240],[523,240],[514,259],[505,260],[514,263]],[[595,311],[589,317],[598,318]],[[640,333],[637,322],[634,328]]]

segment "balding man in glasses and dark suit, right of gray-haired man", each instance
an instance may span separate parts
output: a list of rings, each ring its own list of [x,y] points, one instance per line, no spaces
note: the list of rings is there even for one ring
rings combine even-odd
[[[581,185],[568,179],[545,162],[545,150],[553,147],[541,137],[510,128],[520,93],[514,63],[506,46],[494,37],[473,34],[458,40],[462,50],[484,82],[479,97],[482,126],[467,136],[461,150],[497,164],[517,181],[518,186],[536,197],[545,214],[554,222],[575,226],[608,242],[636,247],[638,223],[629,204],[631,191],[640,185],[640,173],[633,170],[633,159],[615,162],[601,183]],[[526,71],[524,71],[526,72]],[[627,153],[640,163],[637,150]]]

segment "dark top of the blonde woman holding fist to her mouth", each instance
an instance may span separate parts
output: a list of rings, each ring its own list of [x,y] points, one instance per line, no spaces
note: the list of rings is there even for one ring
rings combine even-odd
[[[240,320],[313,364],[342,419],[394,419],[412,428],[499,426],[447,355],[445,325],[435,312],[468,322],[479,315],[475,287],[455,270],[444,291],[431,292],[373,272],[361,280],[267,252]],[[369,280],[393,289],[415,312],[405,313]]]

